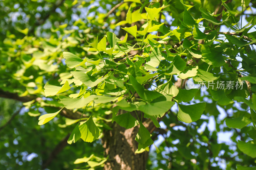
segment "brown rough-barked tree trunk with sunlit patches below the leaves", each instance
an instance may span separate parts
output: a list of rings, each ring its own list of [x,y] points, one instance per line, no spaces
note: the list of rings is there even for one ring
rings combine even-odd
[[[135,137],[139,127],[125,129],[113,123],[111,128],[113,129],[104,132],[102,138],[105,156],[108,156],[104,170],[146,169],[148,152],[134,153],[138,149]]]

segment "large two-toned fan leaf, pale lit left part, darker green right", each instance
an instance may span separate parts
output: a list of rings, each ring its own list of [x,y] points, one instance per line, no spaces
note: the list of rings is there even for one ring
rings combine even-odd
[[[200,119],[205,109],[205,102],[197,103],[194,105],[178,104],[178,106],[178,120],[185,123],[191,123],[196,122],[198,119]]]

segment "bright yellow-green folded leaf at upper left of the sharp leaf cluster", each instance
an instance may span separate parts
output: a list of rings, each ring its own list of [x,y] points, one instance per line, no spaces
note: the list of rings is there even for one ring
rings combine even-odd
[[[83,65],[87,61],[86,58],[83,60],[80,57],[69,52],[63,52],[63,57],[66,59],[65,63],[71,69]]]

